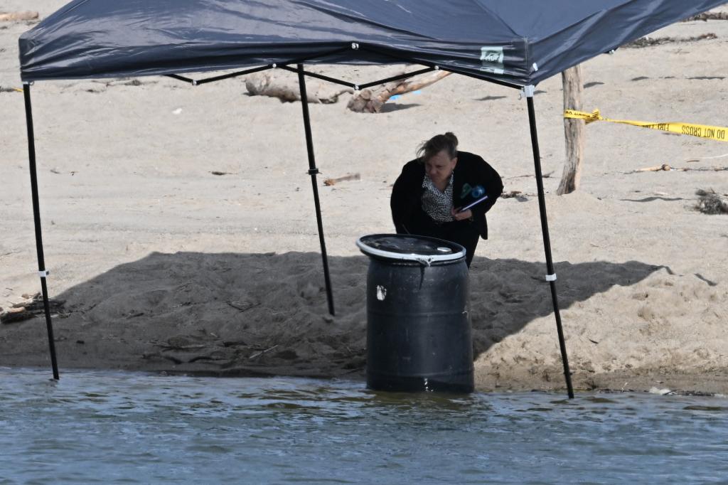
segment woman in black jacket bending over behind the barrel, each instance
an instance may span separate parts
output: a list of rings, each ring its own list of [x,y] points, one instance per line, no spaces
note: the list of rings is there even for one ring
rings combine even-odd
[[[422,143],[417,158],[405,164],[395,181],[390,206],[397,234],[457,242],[467,251],[470,267],[478,237],[488,239],[486,212],[503,192],[503,183],[485,160],[458,151],[457,144],[449,132]]]

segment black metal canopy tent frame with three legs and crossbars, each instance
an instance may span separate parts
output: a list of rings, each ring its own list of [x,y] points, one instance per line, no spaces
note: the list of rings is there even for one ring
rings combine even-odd
[[[366,49],[366,47],[362,47],[360,44],[352,44],[353,49]],[[332,52],[329,52],[323,56],[314,56],[315,58],[321,58],[326,57],[328,55],[331,55],[336,52],[341,52],[341,49],[334,50]],[[395,58],[397,60],[400,60],[403,63],[413,63],[414,60],[408,59],[408,58],[400,58],[392,54],[388,54],[390,57]],[[311,58],[308,58],[306,60],[310,60]],[[416,76],[418,74],[424,74],[425,72],[430,72],[434,70],[438,70],[439,66],[431,65],[427,66],[426,68],[419,69],[418,71],[412,71],[405,74],[400,74],[397,76],[389,76],[384,79],[380,79],[378,81],[373,82],[367,82],[364,84],[354,84],[351,82],[347,82],[341,79],[336,79],[330,76],[324,76],[322,74],[316,74],[309,71],[304,70],[304,63],[303,60],[298,59],[295,61],[292,61],[292,63],[296,63],[296,68],[288,66],[288,64],[284,64],[282,66],[277,66],[276,64],[271,64],[268,66],[261,66],[257,68],[250,68],[246,69],[244,71],[237,71],[230,74],[223,74],[219,76],[211,76],[206,79],[200,79],[200,80],[194,80],[190,79],[186,76],[179,76],[176,74],[168,74],[167,76],[170,76],[174,79],[181,80],[183,82],[190,82],[191,84],[197,86],[200,84],[206,84],[209,82],[215,82],[215,81],[221,81],[223,79],[230,79],[232,77],[241,76],[245,74],[252,74],[255,72],[260,71],[266,71],[268,69],[273,69],[280,67],[282,69],[285,69],[286,71],[292,71],[298,75],[298,87],[301,94],[301,109],[303,114],[303,120],[304,120],[304,135],[306,138],[306,153],[308,157],[309,162],[309,170],[308,174],[311,176],[311,182],[312,182],[312,191],[314,196],[314,208],[316,212],[316,219],[317,219],[317,227],[318,227],[318,233],[319,233],[319,242],[320,242],[320,248],[321,248],[321,257],[323,261],[323,272],[324,272],[324,279],[325,279],[325,287],[326,287],[326,298],[328,303],[328,311],[331,315],[335,315],[334,310],[334,303],[333,303],[333,290],[331,288],[331,276],[329,274],[329,266],[328,266],[328,255],[326,251],[326,245],[325,245],[325,237],[323,232],[323,216],[321,213],[321,207],[320,207],[320,200],[319,200],[319,194],[318,194],[318,188],[317,188],[317,179],[316,176],[319,173],[318,168],[316,167],[315,157],[314,157],[314,144],[313,144],[313,137],[312,137],[312,130],[311,130],[311,121],[309,117],[309,109],[308,109],[308,97],[306,94],[306,82],[305,82],[305,76],[313,77],[316,79],[323,79],[328,82],[333,82],[336,84],[342,84],[344,86],[353,87],[357,90],[364,89],[365,87],[371,87],[376,86],[379,84],[383,84],[384,82],[390,82],[395,81],[398,79],[406,79],[408,77]],[[507,82],[498,81],[495,79],[491,79],[488,76],[474,76],[470,73],[464,73],[464,72],[458,72],[457,70],[453,69],[446,69],[446,71],[451,71],[455,74],[462,74],[469,77],[475,77],[477,79],[492,82],[494,84],[499,84],[506,87],[512,87],[515,89],[522,89],[524,94],[526,95],[526,103],[528,105],[528,113],[529,113],[529,131],[531,133],[531,149],[533,151],[533,157],[534,157],[534,173],[536,177],[537,182],[537,191],[538,191],[538,201],[539,201],[539,217],[541,219],[541,228],[542,228],[542,237],[544,242],[544,250],[545,250],[545,256],[546,256],[546,267],[547,267],[547,275],[546,280],[549,283],[550,286],[550,293],[551,293],[551,299],[552,299],[552,305],[553,305],[553,311],[554,311],[554,317],[555,317],[555,323],[556,323],[556,330],[558,334],[558,344],[561,351],[561,361],[563,364],[563,375],[566,382],[566,391],[569,395],[569,398],[574,398],[574,389],[571,384],[571,371],[569,368],[569,358],[566,352],[566,341],[563,335],[563,326],[561,323],[561,311],[558,304],[558,294],[556,291],[556,284],[555,284],[555,271],[553,267],[553,257],[551,253],[551,244],[550,244],[550,236],[549,236],[549,229],[548,229],[548,221],[547,221],[547,213],[546,213],[546,202],[545,202],[545,192],[544,192],[544,186],[543,186],[543,180],[542,180],[542,170],[541,170],[541,157],[539,153],[539,145],[538,145],[538,133],[537,133],[537,125],[536,125],[536,114],[535,114],[535,108],[534,108],[534,86],[528,85],[525,87],[518,86],[516,84],[510,84]],[[26,122],[28,125],[28,159],[30,160],[30,170],[31,170],[31,188],[33,192],[33,218],[36,221],[35,224],[35,232],[36,232],[36,249],[38,252],[38,261],[39,261],[39,273],[41,275],[41,286],[42,286],[42,293],[43,293],[43,301],[44,301],[44,312],[45,312],[45,318],[47,323],[47,333],[48,333],[48,341],[50,345],[50,355],[51,355],[51,362],[52,362],[52,370],[53,370],[53,378],[58,380],[60,379],[60,376],[58,374],[58,363],[56,360],[55,355],[55,344],[53,341],[53,330],[52,330],[52,320],[50,315],[50,304],[48,299],[48,292],[47,292],[47,283],[46,283],[46,277],[47,277],[47,271],[45,270],[45,263],[44,263],[44,256],[43,256],[43,242],[41,237],[41,224],[40,224],[40,209],[39,209],[39,194],[38,194],[38,186],[37,186],[37,175],[36,175],[36,153],[35,153],[35,143],[33,140],[33,117],[32,117],[32,110],[31,110],[31,87],[32,82],[23,82],[23,92],[25,94],[25,115],[26,115]]]

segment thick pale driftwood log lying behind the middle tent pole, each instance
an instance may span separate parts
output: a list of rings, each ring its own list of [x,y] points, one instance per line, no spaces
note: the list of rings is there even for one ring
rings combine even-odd
[[[251,96],[270,96],[284,102],[300,101],[301,91],[298,79],[287,74],[278,75],[281,71],[266,71],[251,74],[245,78],[245,89]],[[328,82],[306,82],[306,97],[309,103],[336,103],[344,92],[353,92],[351,88],[340,88]]]

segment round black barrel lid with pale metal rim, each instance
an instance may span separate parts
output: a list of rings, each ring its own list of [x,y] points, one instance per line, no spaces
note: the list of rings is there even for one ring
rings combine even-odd
[[[360,237],[357,246],[368,256],[419,261],[427,265],[435,261],[454,261],[465,256],[465,248],[455,242],[412,234],[371,234]]]

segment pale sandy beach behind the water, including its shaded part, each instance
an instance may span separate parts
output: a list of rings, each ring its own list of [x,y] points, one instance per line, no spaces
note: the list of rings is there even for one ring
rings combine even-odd
[[[41,18],[63,0],[7,0]],[[728,12],[728,6],[716,12]],[[0,22],[0,307],[40,291],[17,39]],[[714,36],[705,36],[712,33]],[[703,39],[687,41],[703,36]],[[585,111],[728,126],[728,21],[676,23],[652,47],[583,64]],[[356,82],[401,66],[315,66]],[[280,72],[277,76],[294,76]],[[317,89],[309,80],[309,90]],[[452,131],[505,192],[470,269],[478,390],[561,390],[526,101],[452,75],[379,114],[311,104],[336,316],[328,315],[300,103],[245,78],[37,82],[32,88],[48,286],[61,375],[111,368],[362,379],[364,234],[393,232],[389,194],[420,141]],[[564,162],[561,77],[537,86],[550,240],[577,390],[728,393],[728,143],[587,126],[579,190]],[[668,164],[678,170],[637,170]],[[688,170],[681,170],[688,169]],[[713,170],[716,169],[716,170]],[[216,175],[215,173],[222,173]],[[324,186],[325,178],[359,180]],[[25,295],[25,296],[24,296]],[[0,325],[0,366],[48,366],[45,320]]]

